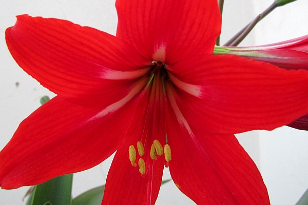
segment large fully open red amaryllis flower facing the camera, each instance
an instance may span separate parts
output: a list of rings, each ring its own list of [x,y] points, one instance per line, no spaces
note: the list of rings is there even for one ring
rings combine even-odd
[[[118,0],[117,37],[18,16],[12,56],[57,94],[0,153],[5,189],[79,172],[114,156],[102,204],[153,204],[163,166],[197,204],[269,204],[234,133],[308,113],[308,72],[212,55],[217,0]]]

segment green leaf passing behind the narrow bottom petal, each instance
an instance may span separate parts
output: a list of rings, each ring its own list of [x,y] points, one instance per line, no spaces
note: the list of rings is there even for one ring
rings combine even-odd
[[[171,179],[163,180],[162,185],[169,181],[171,181]],[[104,191],[105,191],[105,185],[97,187],[97,188],[93,188],[75,197],[72,200],[71,205],[101,205],[102,200],[103,200]]]

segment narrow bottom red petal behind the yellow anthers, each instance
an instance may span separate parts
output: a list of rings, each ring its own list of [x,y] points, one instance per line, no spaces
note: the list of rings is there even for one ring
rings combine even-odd
[[[157,110],[164,109],[164,106],[159,106],[161,98],[159,96],[152,98],[159,91],[155,86],[152,88],[154,93],[146,90],[134,103],[139,105],[139,109],[134,110],[135,115],[131,116],[133,120],[125,133],[126,140],[112,161],[102,204],[154,204],[157,199],[162,180],[164,156],[151,159],[150,148],[155,139],[161,143],[165,142],[166,128],[164,112]],[[156,99],[158,99],[157,104],[153,104]],[[139,155],[137,152],[137,167],[133,167],[128,150],[130,146],[134,146],[137,150],[138,141],[142,141],[144,145],[144,155]],[[145,162],[144,174],[139,171],[140,158]]]

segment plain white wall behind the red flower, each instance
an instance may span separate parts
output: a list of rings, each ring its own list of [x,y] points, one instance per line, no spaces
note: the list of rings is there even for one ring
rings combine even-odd
[[[225,0],[222,43],[226,42],[272,2],[268,0]],[[9,141],[19,122],[40,106],[43,95],[54,96],[20,69],[5,44],[5,29],[14,25],[15,15],[56,17],[115,34],[117,14],[114,0],[0,0],[0,149]],[[278,8],[269,14],[241,44],[279,42],[308,34],[308,2]],[[19,86],[16,86],[18,82]],[[283,127],[238,136],[255,160],[274,205],[295,204],[308,188],[308,133]],[[111,159],[74,175],[73,196],[102,185]],[[170,178],[168,170],[164,178]],[[27,187],[0,190],[0,204],[24,204]],[[161,188],[157,204],[194,204],[172,182]]]

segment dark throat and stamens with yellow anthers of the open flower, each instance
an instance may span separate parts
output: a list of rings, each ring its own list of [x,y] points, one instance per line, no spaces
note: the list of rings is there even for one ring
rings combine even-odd
[[[143,131],[140,141],[128,148],[129,160],[133,167],[139,167],[139,172],[144,175],[152,160],[156,161],[164,154],[163,160],[169,167],[171,149],[167,144],[166,135],[166,85],[170,79],[167,67],[162,61],[152,61],[152,66],[147,74],[148,81],[144,92],[147,94],[147,104],[144,111]],[[163,142],[163,143],[162,143]],[[162,146],[164,145],[164,146]]]

